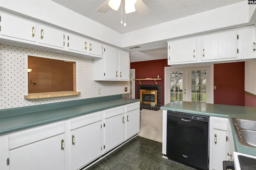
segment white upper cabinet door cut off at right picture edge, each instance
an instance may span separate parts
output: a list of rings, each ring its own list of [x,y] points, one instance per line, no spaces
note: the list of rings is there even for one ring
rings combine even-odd
[[[256,28],[238,30],[238,58],[256,58]]]

